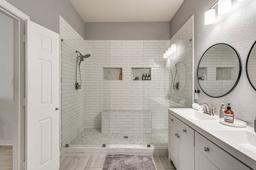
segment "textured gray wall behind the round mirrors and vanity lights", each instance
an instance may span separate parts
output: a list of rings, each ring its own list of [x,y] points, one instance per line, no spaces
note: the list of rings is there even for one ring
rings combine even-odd
[[[204,12],[214,3],[215,1],[212,0],[185,0],[170,21],[170,34],[172,36],[187,18],[194,14],[194,75],[197,75],[201,56],[210,46],[216,43],[227,43],[238,51],[242,60],[242,74],[236,88],[221,98],[209,97],[201,91],[202,93],[198,94],[198,100],[194,102],[207,102],[211,107],[216,108],[214,113],[217,115],[220,103],[230,103],[235,119],[244,120],[253,127],[256,115],[256,91],[246,76],[246,59],[256,40],[256,1],[232,0],[231,12],[222,16],[217,14],[215,23],[204,25]],[[217,13],[217,6],[214,9]],[[196,76],[194,76],[194,89],[201,90]]]

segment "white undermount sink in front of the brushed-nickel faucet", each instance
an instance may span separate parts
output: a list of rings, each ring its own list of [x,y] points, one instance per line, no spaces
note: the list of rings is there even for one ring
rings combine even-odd
[[[190,119],[193,119],[193,120],[216,120],[215,117],[206,115],[205,113],[197,111],[195,109],[182,109],[182,110],[177,109],[176,112],[179,112],[182,115],[189,117]]]

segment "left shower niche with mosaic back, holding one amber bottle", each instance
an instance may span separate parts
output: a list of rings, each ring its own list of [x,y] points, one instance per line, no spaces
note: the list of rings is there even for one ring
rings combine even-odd
[[[103,80],[120,80],[122,68],[103,67]]]

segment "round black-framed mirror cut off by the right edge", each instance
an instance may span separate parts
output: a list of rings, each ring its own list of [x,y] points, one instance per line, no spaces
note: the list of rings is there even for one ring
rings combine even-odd
[[[247,78],[254,88],[256,90],[256,41],[252,45],[252,48],[250,49],[250,52],[248,54],[247,60],[246,60],[246,74]]]

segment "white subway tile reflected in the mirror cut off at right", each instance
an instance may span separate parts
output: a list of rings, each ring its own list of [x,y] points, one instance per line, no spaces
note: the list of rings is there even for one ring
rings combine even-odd
[[[251,53],[250,53],[250,57],[248,59],[248,74],[250,77],[250,81],[252,82],[252,84],[254,85],[254,87],[256,87],[256,45],[254,45]]]

